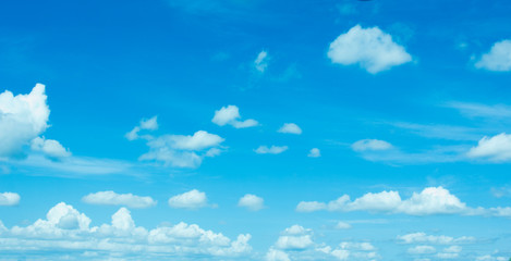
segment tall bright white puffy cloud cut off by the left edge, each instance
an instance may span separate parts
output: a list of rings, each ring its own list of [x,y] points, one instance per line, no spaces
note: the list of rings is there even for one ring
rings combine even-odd
[[[28,95],[0,94],[0,157],[21,153],[24,146],[48,127],[50,109],[45,86],[37,84]]]

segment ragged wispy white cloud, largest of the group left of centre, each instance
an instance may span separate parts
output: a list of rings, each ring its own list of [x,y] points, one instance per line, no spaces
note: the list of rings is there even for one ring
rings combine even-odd
[[[162,161],[166,165],[178,167],[197,167],[204,157],[215,157],[219,151],[210,149],[220,146],[223,138],[218,135],[198,130],[194,135],[163,135],[147,141],[149,152],[139,160]],[[200,152],[209,149],[206,152]]]

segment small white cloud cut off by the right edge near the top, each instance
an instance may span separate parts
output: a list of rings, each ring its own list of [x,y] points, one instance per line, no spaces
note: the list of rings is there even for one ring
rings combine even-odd
[[[496,72],[511,71],[511,40],[495,42],[489,52],[483,54],[475,63],[475,66]]]

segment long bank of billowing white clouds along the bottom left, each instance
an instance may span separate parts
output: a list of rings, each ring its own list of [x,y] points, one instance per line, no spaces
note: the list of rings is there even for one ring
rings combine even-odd
[[[92,220],[72,206],[63,202],[54,206],[46,219],[28,226],[3,227],[0,234],[0,251],[20,252],[25,257],[45,252],[45,258],[58,258],[62,251],[80,254],[87,251],[95,260],[117,258],[137,260],[187,259],[197,256],[209,260],[247,256],[250,234],[241,234],[235,240],[184,222],[159,226],[154,229],[136,226],[127,209],[121,208],[110,224],[90,226]],[[1,222],[0,222],[1,224]],[[77,257],[81,260],[83,256]],[[54,259],[53,259],[54,260]]]

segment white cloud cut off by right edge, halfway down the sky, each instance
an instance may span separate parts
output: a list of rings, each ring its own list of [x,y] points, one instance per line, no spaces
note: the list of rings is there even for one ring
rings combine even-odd
[[[483,137],[476,147],[471,148],[467,156],[496,162],[510,161],[511,135],[501,133],[494,137]]]

